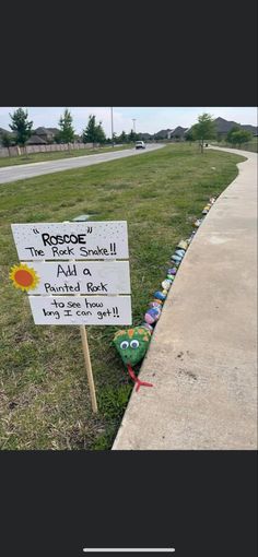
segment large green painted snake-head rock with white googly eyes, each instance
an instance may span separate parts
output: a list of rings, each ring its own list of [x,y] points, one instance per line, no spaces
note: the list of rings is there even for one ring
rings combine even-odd
[[[114,344],[126,366],[134,366],[144,357],[151,341],[151,332],[145,327],[117,331]]]

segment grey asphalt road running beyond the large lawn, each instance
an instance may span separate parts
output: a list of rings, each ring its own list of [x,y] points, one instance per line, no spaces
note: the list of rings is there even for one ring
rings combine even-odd
[[[98,155],[85,155],[72,158],[62,158],[59,161],[46,161],[45,163],[5,166],[4,168],[0,168],[0,183],[24,180],[26,178],[33,178],[34,176],[42,176],[43,174],[60,173],[71,168],[81,168],[83,166],[107,163],[108,161],[116,161],[117,158],[124,158],[126,156],[150,153],[150,151],[155,151],[162,146],[163,145],[154,144],[148,145],[145,150],[127,149],[124,151],[115,151],[114,153],[108,152],[101,153]]]

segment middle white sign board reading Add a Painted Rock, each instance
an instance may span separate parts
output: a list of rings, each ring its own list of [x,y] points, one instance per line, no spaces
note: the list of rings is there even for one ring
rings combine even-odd
[[[128,261],[26,263],[38,277],[28,294],[130,294]]]

